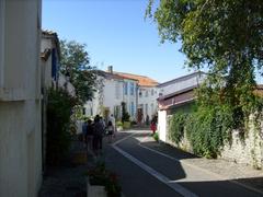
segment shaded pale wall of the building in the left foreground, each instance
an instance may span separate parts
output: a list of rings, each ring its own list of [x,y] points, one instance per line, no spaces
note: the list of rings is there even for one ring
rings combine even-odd
[[[0,1],[0,196],[42,184],[41,0]]]

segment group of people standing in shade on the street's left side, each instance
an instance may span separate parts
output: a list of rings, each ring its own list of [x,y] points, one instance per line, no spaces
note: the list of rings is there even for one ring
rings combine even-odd
[[[112,138],[115,132],[115,118],[113,115],[105,123],[103,117],[96,115],[94,120],[88,119],[82,125],[82,136],[84,146],[89,151],[98,154],[102,150],[103,137],[107,136],[108,142],[112,142]]]

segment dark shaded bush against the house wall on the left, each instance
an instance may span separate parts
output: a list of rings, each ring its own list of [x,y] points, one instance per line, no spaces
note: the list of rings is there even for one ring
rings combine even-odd
[[[47,163],[56,165],[67,155],[70,147],[71,112],[76,99],[62,89],[48,91],[47,104]]]

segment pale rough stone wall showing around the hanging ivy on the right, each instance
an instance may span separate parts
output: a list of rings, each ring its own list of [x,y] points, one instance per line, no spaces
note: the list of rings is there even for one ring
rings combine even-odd
[[[167,116],[165,138],[160,138],[162,141],[178,147],[184,151],[193,153],[186,132],[178,146],[169,139],[169,116]],[[255,125],[259,127],[255,127]],[[165,139],[165,140],[163,140]],[[219,158],[251,165],[255,169],[263,169],[263,121],[256,123],[254,116],[250,116],[248,130],[244,131],[243,138],[239,130],[232,130],[232,139],[230,142],[226,141]]]

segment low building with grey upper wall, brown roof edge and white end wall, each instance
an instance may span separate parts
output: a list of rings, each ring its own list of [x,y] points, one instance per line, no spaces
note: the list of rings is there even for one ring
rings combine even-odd
[[[205,80],[204,72],[194,72],[158,85],[158,131],[160,140],[168,140],[168,117],[176,109],[190,111],[194,89]]]

